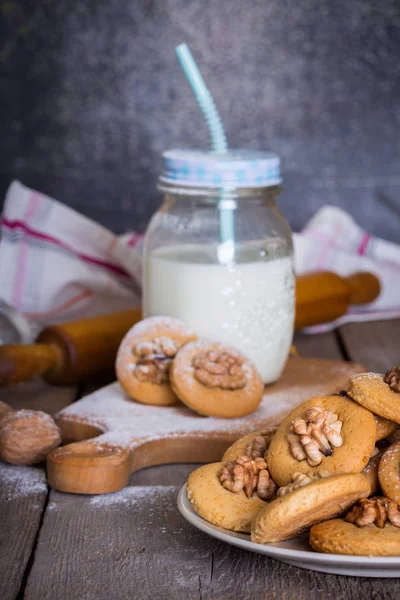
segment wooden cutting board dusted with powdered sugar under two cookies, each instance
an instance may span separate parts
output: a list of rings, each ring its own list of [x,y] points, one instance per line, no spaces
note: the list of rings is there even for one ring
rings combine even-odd
[[[346,389],[361,371],[356,363],[290,358],[258,409],[239,419],[201,417],[183,404],[140,404],[113,383],[58,413],[63,441],[73,443],[49,455],[49,483],[63,492],[104,494],[123,488],[144,467],[218,461],[239,437],[276,426],[313,396]]]

